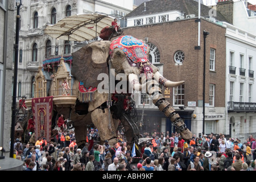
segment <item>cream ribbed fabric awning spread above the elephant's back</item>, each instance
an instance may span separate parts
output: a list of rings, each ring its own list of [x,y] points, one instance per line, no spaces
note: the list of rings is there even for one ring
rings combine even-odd
[[[102,28],[112,26],[113,21],[114,17],[106,14],[76,14],[67,16],[56,24],[48,24],[44,33],[55,39],[82,42],[96,38]]]

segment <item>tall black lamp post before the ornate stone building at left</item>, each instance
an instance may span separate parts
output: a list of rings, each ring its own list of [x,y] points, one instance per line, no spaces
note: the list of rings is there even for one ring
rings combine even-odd
[[[10,146],[10,158],[13,158],[14,154],[14,140],[15,140],[15,120],[16,120],[16,92],[17,92],[17,73],[18,73],[18,55],[19,55],[19,26],[20,15],[19,10],[22,6],[22,0],[16,0],[17,15],[16,15],[16,34],[15,34],[15,60],[14,60],[14,76],[13,76],[13,106],[11,108],[11,146]]]

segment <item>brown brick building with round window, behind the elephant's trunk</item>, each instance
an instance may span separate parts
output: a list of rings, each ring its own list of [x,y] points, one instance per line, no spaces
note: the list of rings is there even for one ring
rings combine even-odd
[[[154,14],[150,14],[150,16],[154,16]],[[196,20],[195,17],[142,24],[124,28],[123,32],[125,35],[135,36],[148,43],[152,51],[150,60],[159,68],[159,72],[164,77],[171,81],[185,81],[183,86],[171,89],[170,92],[163,88],[163,93],[166,100],[184,119],[188,129],[196,135],[203,131],[203,31],[209,32],[206,39],[205,133],[223,133],[226,117],[226,29],[208,19],[201,18],[201,47],[196,49],[198,41]],[[137,103],[138,120],[141,119],[143,98],[143,94],[140,93],[134,96]],[[142,126],[143,132],[165,133],[170,131],[171,133],[175,131],[170,120],[150,100],[146,101],[146,104],[143,121],[144,124],[147,124]]]

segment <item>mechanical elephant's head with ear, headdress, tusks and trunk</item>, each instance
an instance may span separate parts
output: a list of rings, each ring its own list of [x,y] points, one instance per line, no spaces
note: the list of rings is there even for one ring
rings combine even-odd
[[[159,89],[159,84],[171,88],[183,84],[184,81],[173,82],[164,78],[158,68],[148,60],[148,53],[149,48],[142,40],[128,35],[120,36],[112,42],[93,42],[72,53],[72,75],[84,82],[86,87],[97,87],[101,82],[97,80],[100,73],[108,74],[110,68],[114,69],[116,75],[124,73],[134,90],[146,89],[153,103],[180,130],[183,139],[191,139],[191,131]]]

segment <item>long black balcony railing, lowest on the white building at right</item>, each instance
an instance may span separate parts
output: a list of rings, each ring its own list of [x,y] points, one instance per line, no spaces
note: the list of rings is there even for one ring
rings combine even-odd
[[[228,112],[256,112],[256,103],[228,102]]]

